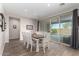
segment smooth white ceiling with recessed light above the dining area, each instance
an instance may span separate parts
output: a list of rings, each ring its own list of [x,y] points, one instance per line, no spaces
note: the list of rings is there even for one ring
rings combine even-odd
[[[21,17],[43,19],[56,14],[75,9],[78,3],[3,3],[7,14],[14,14]]]

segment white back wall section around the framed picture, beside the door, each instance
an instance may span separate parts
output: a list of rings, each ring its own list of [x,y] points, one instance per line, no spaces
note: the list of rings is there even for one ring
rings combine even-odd
[[[33,25],[33,32],[37,30],[37,20],[31,20],[26,18],[20,19],[20,40],[23,40],[22,32],[28,31],[26,25]]]

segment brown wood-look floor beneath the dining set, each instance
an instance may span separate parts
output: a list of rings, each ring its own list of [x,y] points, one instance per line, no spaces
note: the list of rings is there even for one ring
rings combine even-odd
[[[3,56],[78,56],[79,49],[72,49],[69,46],[50,42],[49,49],[46,49],[46,53],[43,53],[42,48],[40,52],[35,52],[35,48],[32,52],[30,49],[26,49],[22,41],[11,40],[5,44]]]

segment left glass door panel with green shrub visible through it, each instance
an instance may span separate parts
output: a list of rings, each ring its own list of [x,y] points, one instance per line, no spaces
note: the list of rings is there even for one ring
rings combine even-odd
[[[59,29],[59,17],[53,17],[50,24],[51,40],[60,42]]]

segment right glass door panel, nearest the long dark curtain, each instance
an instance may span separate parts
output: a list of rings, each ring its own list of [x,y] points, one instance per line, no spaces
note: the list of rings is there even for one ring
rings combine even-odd
[[[60,42],[70,44],[72,35],[72,14],[60,16]]]

